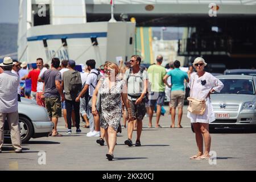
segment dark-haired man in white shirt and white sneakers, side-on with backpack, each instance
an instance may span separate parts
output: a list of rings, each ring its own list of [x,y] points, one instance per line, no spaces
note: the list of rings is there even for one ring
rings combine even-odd
[[[97,86],[98,80],[100,80],[101,74],[100,71],[95,69],[96,61],[94,59],[90,59],[86,61],[86,65],[88,70],[90,71],[89,75],[86,78],[85,86],[82,88],[81,93],[76,98],[76,102],[79,102],[80,98],[84,96],[86,91],[89,89],[89,102],[93,96],[93,92]],[[86,98],[85,98],[86,99]],[[92,106],[89,106],[89,124],[90,124],[90,132],[86,134],[86,137],[100,137],[100,117],[98,115],[93,116],[92,114]],[[94,129],[95,125],[95,129]]]

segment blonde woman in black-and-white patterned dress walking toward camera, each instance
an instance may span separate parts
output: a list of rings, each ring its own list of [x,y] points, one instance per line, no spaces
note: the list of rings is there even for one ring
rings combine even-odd
[[[92,114],[97,114],[97,94],[100,94],[100,122],[105,129],[105,139],[109,147],[106,154],[109,160],[114,158],[113,151],[117,142],[117,129],[122,117],[122,102],[128,108],[129,121],[133,121],[130,111],[129,100],[127,99],[126,83],[117,77],[118,66],[114,63],[108,65],[106,77],[98,82],[92,98]]]

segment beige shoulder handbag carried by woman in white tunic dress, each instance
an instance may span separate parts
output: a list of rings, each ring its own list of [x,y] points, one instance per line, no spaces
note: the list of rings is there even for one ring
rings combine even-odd
[[[192,94],[192,88],[194,85],[194,81],[193,80],[193,84],[191,87],[191,94]],[[188,105],[188,111],[193,113],[193,114],[198,114],[198,115],[203,115],[206,109],[206,104],[205,104],[205,100],[197,100],[196,98],[193,97],[188,97],[187,100],[189,101],[189,105]]]

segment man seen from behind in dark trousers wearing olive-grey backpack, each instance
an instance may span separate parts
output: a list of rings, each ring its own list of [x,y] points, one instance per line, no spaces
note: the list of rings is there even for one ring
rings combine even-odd
[[[68,132],[67,134],[72,134],[72,122],[71,114],[72,107],[75,111],[76,116],[76,133],[80,133],[80,102],[76,102],[76,97],[78,96],[81,88],[82,81],[80,73],[75,71],[76,62],[74,60],[68,60],[68,71],[63,72],[62,83],[65,90],[65,106],[67,109],[67,122],[68,122]]]

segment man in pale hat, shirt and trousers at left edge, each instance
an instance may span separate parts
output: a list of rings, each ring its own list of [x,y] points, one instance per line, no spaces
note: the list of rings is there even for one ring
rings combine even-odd
[[[22,152],[17,97],[19,76],[11,72],[15,64],[11,57],[5,57],[3,63],[0,64],[0,67],[3,69],[3,73],[0,74],[0,152],[2,152],[3,130],[6,117],[11,130],[13,148],[15,152]]]

